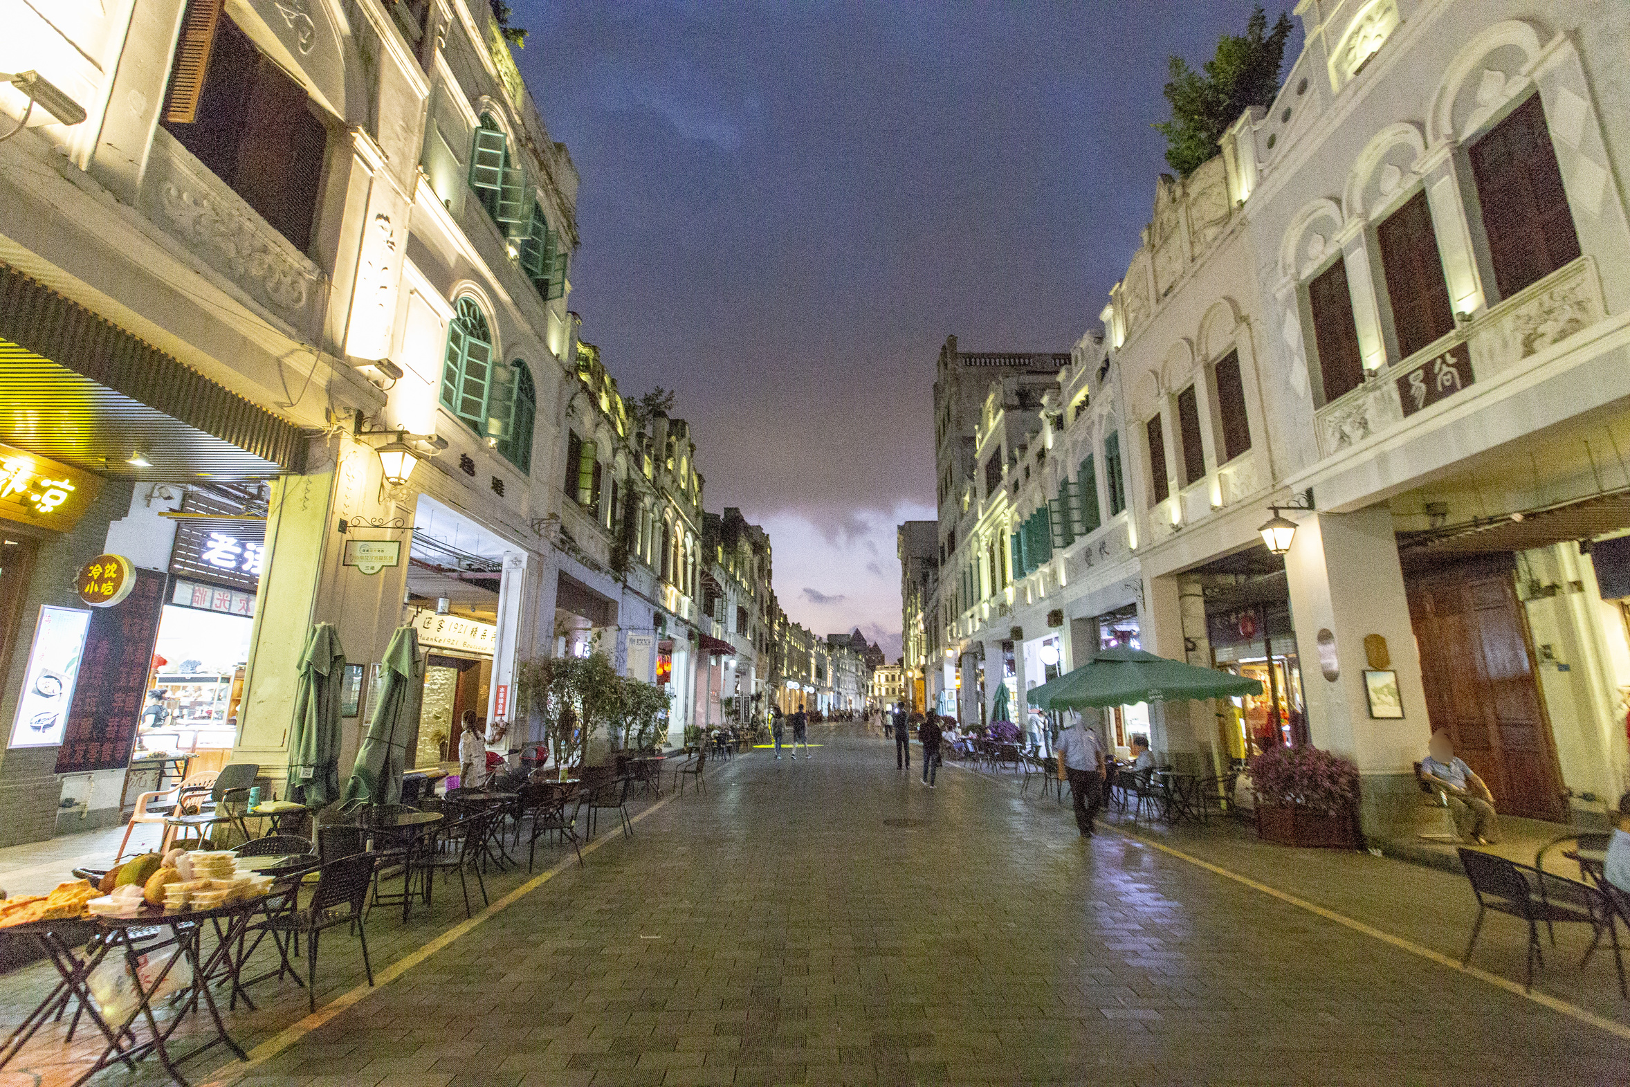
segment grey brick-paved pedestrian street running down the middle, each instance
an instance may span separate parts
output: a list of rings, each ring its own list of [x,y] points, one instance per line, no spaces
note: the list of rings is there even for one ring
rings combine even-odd
[[[1627,1076],[1630,1035],[1615,1036],[1610,1023],[1315,916],[1148,844],[1157,836],[1108,830],[1084,843],[1068,808],[1020,797],[1012,779],[947,764],[931,792],[895,771],[882,738],[846,727],[812,733],[823,745],[813,759],[755,751],[711,769],[706,795],[657,805],[632,841],[603,833],[582,870],[562,869],[326,1023],[279,1041],[303,1014],[300,991],[285,986],[274,1017],[246,1017],[243,1036],[261,1061],[214,1082]],[[1278,851],[1221,828],[1164,841],[1434,950],[1457,953],[1469,929],[1465,883],[1443,872]],[[1434,896],[1441,904],[1421,904]],[[1521,978],[1521,940],[1503,921],[1490,921],[1477,965]],[[404,940],[383,914],[375,932],[377,968],[434,935],[414,927]],[[360,983],[341,953],[350,940],[336,944],[334,970],[352,976],[336,976],[323,999]],[[1573,934],[1558,944],[1540,989],[1568,1001],[1584,992],[1584,1014],[1623,1030],[1610,958],[1579,975],[1583,944]],[[212,1061],[194,1067],[200,1079],[212,1079]],[[145,1082],[156,1082],[152,1072]],[[104,1079],[129,1082],[117,1071]]]

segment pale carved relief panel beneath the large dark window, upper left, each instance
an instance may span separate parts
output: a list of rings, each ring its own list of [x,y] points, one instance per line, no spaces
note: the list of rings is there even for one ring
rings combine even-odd
[[[217,272],[305,329],[316,266],[163,130],[153,142],[147,191],[148,217],[168,225]]]

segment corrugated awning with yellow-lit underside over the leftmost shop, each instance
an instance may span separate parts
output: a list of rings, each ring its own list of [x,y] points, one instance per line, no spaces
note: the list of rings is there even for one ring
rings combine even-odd
[[[298,427],[5,264],[0,406],[0,440],[99,474],[305,471]]]

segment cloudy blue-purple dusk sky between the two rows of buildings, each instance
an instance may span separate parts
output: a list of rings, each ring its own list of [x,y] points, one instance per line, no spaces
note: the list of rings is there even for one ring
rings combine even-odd
[[[582,176],[584,339],[626,396],[678,391],[707,508],[769,530],[787,613],[893,658],[939,345],[1097,326],[1165,169],[1167,55],[1250,0],[512,7]]]

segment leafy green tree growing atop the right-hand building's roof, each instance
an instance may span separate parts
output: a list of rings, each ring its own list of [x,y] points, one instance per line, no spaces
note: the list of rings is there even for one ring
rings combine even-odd
[[[1165,101],[1172,104],[1172,119],[1154,127],[1165,137],[1165,161],[1172,169],[1192,174],[1218,153],[1218,140],[1242,112],[1273,104],[1289,37],[1291,16],[1280,11],[1270,31],[1258,3],[1244,34],[1218,39],[1218,54],[1206,60],[1205,72],[1195,72],[1182,57],[1167,62]]]

